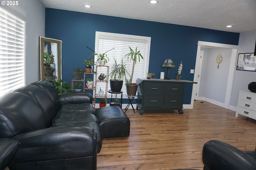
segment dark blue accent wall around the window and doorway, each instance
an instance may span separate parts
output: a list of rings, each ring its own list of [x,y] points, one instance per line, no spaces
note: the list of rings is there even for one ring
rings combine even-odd
[[[94,49],[95,31],[151,37],[149,72],[154,72],[156,78],[160,72],[166,75],[161,65],[170,58],[176,68],[170,68],[169,77],[174,79],[182,61],[182,79],[191,81],[198,41],[238,45],[239,40],[239,33],[46,8],[45,37],[62,40],[64,81],[74,78],[74,67],[84,68],[82,59],[92,54],[86,46]],[[186,84],[184,104],[190,104],[191,95],[192,84]]]

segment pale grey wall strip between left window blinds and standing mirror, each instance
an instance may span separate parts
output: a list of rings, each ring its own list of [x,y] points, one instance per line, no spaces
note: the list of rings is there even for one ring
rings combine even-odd
[[[20,0],[18,6],[26,11],[25,84],[40,80],[39,36],[44,37],[45,7],[39,0]]]

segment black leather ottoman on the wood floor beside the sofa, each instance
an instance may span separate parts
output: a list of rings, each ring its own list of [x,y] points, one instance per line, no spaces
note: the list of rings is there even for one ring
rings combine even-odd
[[[96,109],[98,125],[103,138],[127,138],[130,135],[130,119],[120,107],[109,106]]]

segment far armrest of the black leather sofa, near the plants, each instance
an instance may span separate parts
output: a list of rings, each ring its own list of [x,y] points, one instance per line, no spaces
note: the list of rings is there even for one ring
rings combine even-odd
[[[91,103],[92,95],[87,92],[70,92],[59,94],[60,104],[82,104]]]

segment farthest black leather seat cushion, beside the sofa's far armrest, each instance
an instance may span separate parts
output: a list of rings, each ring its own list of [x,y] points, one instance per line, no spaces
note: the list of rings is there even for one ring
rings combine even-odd
[[[57,113],[73,113],[73,112],[82,112],[82,113],[93,113],[95,114],[95,109],[92,104],[62,104]]]

